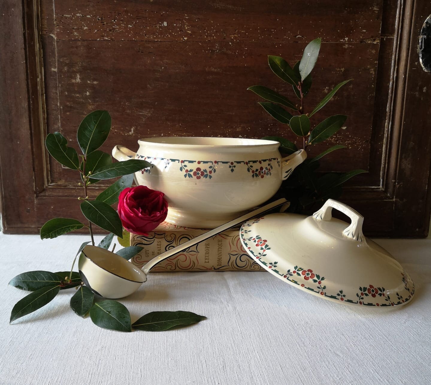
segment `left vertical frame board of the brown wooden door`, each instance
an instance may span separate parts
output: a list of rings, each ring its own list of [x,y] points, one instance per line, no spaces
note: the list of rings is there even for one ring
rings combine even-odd
[[[35,181],[21,2],[0,2],[0,166],[3,231],[34,232]]]

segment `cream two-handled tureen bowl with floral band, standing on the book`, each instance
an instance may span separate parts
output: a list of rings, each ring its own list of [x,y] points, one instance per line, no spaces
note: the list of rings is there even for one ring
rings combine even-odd
[[[136,183],[165,193],[166,221],[184,227],[214,228],[261,205],[306,159],[304,150],[281,157],[280,143],[272,140],[162,137],[138,143],[136,153],[115,146],[113,157],[153,164],[135,174]]]

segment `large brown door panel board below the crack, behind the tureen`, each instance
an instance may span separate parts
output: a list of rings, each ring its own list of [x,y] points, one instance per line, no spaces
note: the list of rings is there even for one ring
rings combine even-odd
[[[82,111],[106,108],[113,122],[106,150],[119,143],[136,150],[139,137],[160,135],[258,138],[280,135],[300,145],[302,139],[298,140],[288,126],[266,114],[257,104],[261,99],[247,91],[250,85],[263,84],[298,101],[292,87],[270,71],[266,59],[268,52],[286,56],[297,44],[286,43],[283,50],[267,43],[259,47],[220,43],[217,49],[214,44],[197,43],[140,43],[137,47],[134,42],[103,42],[102,49],[100,44],[57,42],[57,53],[62,58],[54,74],[62,90],[60,122],[63,135],[72,143],[83,118]],[[329,115],[350,110],[347,129],[326,143],[310,147],[310,156],[319,154],[328,145],[343,143],[349,147],[350,151],[342,153],[342,163],[337,157],[328,157],[324,163],[326,170],[367,168],[369,163],[370,111],[374,98],[363,95],[374,95],[373,66],[378,52],[375,44],[349,44],[347,48],[345,45],[322,45],[322,57],[314,71],[315,92],[310,93],[305,104],[306,111],[311,112],[337,82],[355,77],[334,96],[334,101],[312,117],[317,124]],[[95,50],[100,50],[99,54],[93,55]],[[235,58],[226,60],[226,55],[232,53]],[[112,61],[111,57],[122,60]],[[336,58],[339,67],[334,68],[328,57]],[[356,57],[361,60],[355,62]],[[352,62],[354,66],[349,64]],[[325,74],[336,80],[328,82]],[[103,103],[94,103],[102,100]],[[56,167],[51,177],[57,181],[65,179],[64,175],[65,171]]]

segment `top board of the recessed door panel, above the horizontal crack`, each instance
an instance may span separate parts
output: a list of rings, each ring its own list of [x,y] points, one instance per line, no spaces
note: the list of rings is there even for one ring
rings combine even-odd
[[[55,2],[59,40],[360,42],[380,36],[382,0]]]

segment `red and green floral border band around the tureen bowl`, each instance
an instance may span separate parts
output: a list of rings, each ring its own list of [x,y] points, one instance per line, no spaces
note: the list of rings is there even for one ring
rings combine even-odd
[[[192,179],[211,179],[216,172],[217,164],[228,165],[228,170],[231,174],[234,173],[237,166],[247,167],[247,172],[250,173],[252,178],[265,178],[272,175],[273,162],[277,163],[280,167],[280,161],[278,158],[261,159],[257,161],[192,161],[185,159],[168,159],[168,158],[154,158],[147,157],[144,155],[136,155],[137,159],[143,159],[144,161],[161,161],[162,164],[159,167],[168,168],[172,163],[179,164],[179,171],[184,173],[184,178]],[[151,173],[151,168],[145,168],[141,170],[141,173]]]

